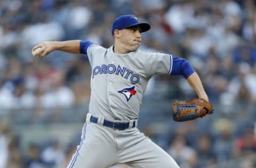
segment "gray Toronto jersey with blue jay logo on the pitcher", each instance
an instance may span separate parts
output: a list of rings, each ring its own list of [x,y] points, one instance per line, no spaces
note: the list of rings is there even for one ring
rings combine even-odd
[[[138,119],[148,80],[170,74],[172,56],[142,51],[116,54],[113,46],[87,48],[92,68],[89,112],[113,120]]]

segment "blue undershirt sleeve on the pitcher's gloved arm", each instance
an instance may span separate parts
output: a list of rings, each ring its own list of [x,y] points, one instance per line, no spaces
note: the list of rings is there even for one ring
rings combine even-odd
[[[179,57],[173,57],[171,74],[183,75],[183,77],[187,79],[194,72],[195,70],[187,60]]]

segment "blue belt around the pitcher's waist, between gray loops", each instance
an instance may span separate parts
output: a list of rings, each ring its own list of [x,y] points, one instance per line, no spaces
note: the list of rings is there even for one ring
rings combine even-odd
[[[97,124],[98,118],[91,116],[90,121]],[[135,121],[133,121],[132,128],[134,128],[135,125],[136,125]],[[108,120],[104,120],[103,126],[110,127],[110,128],[117,129],[117,130],[125,130],[125,129],[129,128],[129,122],[123,123],[123,122],[111,122]]]

